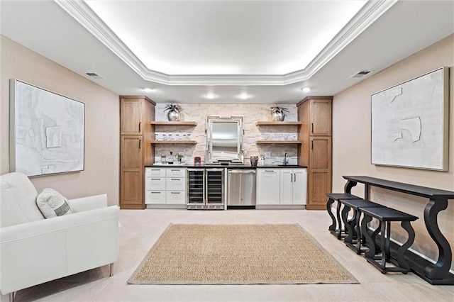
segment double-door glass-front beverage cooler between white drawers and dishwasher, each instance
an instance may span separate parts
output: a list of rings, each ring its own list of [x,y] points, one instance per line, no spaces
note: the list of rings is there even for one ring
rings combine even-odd
[[[187,208],[223,210],[223,168],[187,169]]]

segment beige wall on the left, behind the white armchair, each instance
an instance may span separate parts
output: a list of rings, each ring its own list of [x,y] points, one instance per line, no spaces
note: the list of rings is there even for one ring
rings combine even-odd
[[[67,198],[106,193],[109,205],[118,204],[118,95],[3,35],[0,38],[0,174],[9,172],[9,79],[20,79],[85,104],[84,171],[33,177],[37,191],[50,187]]]

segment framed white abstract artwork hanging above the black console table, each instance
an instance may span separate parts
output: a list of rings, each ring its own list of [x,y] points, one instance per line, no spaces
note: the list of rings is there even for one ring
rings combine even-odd
[[[372,164],[446,171],[448,97],[448,67],[372,94]]]

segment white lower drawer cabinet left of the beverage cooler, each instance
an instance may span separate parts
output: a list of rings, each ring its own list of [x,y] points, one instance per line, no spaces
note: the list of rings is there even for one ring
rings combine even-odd
[[[145,168],[145,204],[186,204],[186,168]]]

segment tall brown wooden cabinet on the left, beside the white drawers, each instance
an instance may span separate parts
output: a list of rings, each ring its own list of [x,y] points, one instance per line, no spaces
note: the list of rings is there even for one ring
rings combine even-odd
[[[155,102],[120,96],[120,208],[145,208],[145,166],[154,162]]]

